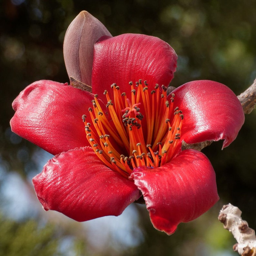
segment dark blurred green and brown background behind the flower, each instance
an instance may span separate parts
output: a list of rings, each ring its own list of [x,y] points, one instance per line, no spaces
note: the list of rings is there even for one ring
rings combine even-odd
[[[44,212],[31,179],[52,155],[15,135],[12,101],[41,79],[68,82],[62,45],[81,11],[97,17],[115,36],[160,37],[178,54],[172,86],[211,79],[240,94],[256,77],[254,0],[1,0],[0,1],[0,256],[2,255],[238,255],[222,228],[223,204],[238,206],[256,229],[256,110],[246,115],[237,139],[205,148],[216,171],[220,201],[172,236],[153,228],[145,205],[119,217],[75,222]]]

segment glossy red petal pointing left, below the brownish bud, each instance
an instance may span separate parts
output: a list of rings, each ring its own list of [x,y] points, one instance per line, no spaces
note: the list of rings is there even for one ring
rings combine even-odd
[[[92,99],[88,92],[67,84],[34,82],[13,102],[12,131],[52,154],[87,146],[82,115]]]

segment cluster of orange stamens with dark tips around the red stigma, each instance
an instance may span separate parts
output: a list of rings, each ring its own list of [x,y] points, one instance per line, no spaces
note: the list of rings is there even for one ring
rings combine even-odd
[[[86,137],[96,155],[125,177],[134,168],[155,168],[169,162],[176,153],[183,122],[182,111],[173,108],[174,94],[167,100],[165,86],[162,85],[161,93],[156,84],[149,93],[146,81],[144,85],[142,80],[135,86],[129,84],[130,98],[121,94],[116,84],[111,85],[113,101],[104,92],[109,116],[103,112],[95,94],[93,108],[89,108],[93,126],[86,122],[86,115],[82,117]]]

